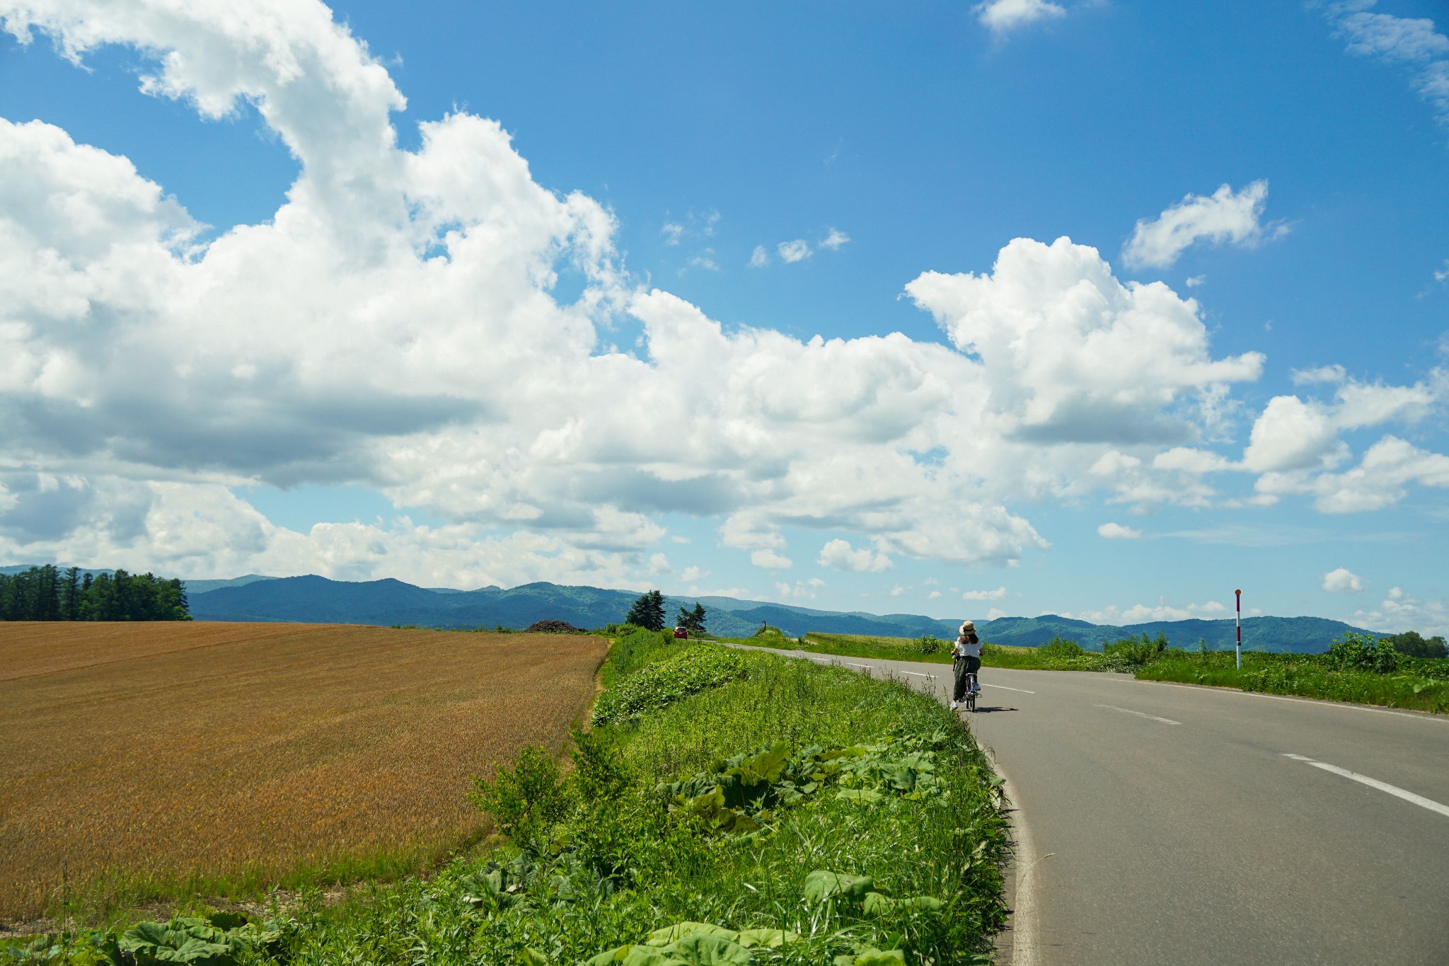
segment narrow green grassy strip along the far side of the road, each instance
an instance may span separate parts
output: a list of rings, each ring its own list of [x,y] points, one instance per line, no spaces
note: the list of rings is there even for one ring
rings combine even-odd
[[[1359,640],[1362,639],[1362,640]],[[1449,659],[1390,658],[1382,647],[1368,644],[1371,636],[1355,636],[1348,650],[1324,655],[1278,655],[1243,652],[1243,666],[1235,666],[1230,650],[1182,650],[1165,639],[1126,639],[1108,643],[1106,652],[1090,652],[1075,642],[1052,640],[1040,647],[985,644],[987,668],[1027,671],[1120,671],[1142,681],[1200,684],[1265,694],[1298,695],[1327,701],[1350,701],[1390,708],[1449,713]],[[848,658],[884,658],[949,663],[935,639],[865,637],[856,634],[806,634],[800,642],[777,634],[759,634],[740,643],[798,649]],[[1356,649],[1356,650],[1355,650]]]

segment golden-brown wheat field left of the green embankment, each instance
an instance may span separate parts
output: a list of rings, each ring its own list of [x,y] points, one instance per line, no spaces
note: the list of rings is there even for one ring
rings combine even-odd
[[[606,649],[561,634],[0,623],[0,920],[54,911],[77,888],[110,904],[148,883],[161,895],[436,857],[481,831],[469,775],[525,744],[562,746]]]

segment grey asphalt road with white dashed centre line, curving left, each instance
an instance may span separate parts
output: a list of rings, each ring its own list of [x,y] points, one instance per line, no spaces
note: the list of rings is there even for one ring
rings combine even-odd
[[[829,660],[942,700],[951,678]],[[1449,717],[981,675],[966,717],[1017,805],[1016,966],[1449,963]]]

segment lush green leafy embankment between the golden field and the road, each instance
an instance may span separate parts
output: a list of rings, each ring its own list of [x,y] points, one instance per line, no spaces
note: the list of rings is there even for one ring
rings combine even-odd
[[[478,782],[507,836],[494,854],[162,941],[212,928],[230,960],[288,966],[988,962],[1006,823],[939,702],[646,631],[604,681],[567,775],[529,750]]]

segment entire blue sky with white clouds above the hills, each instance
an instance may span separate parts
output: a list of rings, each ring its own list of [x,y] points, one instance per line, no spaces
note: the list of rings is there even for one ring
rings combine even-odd
[[[1440,4],[0,16],[16,562],[1449,629]]]

